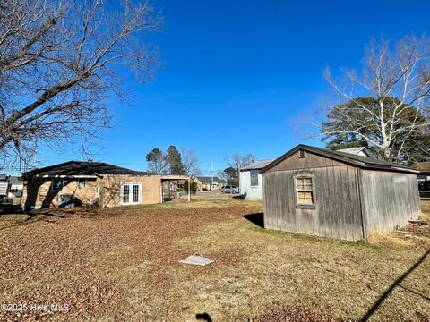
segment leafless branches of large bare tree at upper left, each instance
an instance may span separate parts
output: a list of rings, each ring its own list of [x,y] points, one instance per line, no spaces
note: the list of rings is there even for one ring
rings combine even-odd
[[[2,1],[0,153],[90,140],[109,124],[106,98],[123,94],[123,67],[150,77],[157,52],[142,35],[160,23],[147,2]]]

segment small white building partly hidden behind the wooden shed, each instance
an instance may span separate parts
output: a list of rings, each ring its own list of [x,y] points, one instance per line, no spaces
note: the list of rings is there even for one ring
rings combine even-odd
[[[262,174],[258,172],[273,160],[255,161],[240,169],[240,193],[246,193],[247,200],[262,200]]]

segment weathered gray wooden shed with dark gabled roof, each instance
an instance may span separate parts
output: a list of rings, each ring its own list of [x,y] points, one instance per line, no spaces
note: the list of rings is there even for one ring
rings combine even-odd
[[[420,212],[417,171],[372,157],[298,145],[260,173],[269,229],[356,241]]]

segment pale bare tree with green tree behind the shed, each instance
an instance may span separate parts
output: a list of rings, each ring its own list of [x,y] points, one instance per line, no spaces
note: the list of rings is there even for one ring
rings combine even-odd
[[[408,36],[396,43],[373,41],[366,48],[364,71],[344,72],[343,85],[327,70],[326,79],[341,99],[329,116],[341,120],[342,125],[325,126],[323,134],[352,135],[386,160],[408,162],[408,151],[416,148],[430,157],[428,142],[423,146],[417,139],[430,131],[429,63],[429,39]],[[332,111],[333,106],[330,108]]]

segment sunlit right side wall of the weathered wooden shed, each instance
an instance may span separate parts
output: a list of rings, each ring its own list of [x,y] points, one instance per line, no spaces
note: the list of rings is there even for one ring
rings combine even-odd
[[[361,191],[369,232],[390,232],[419,215],[417,174],[361,170]]]

